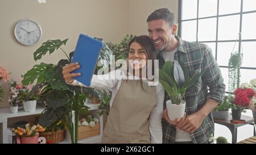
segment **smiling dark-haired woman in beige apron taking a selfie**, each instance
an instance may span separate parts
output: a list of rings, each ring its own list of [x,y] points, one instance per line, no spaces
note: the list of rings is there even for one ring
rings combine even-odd
[[[154,52],[148,36],[134,37],[129,43],[131,72],[118,69],[105,75],[93,75],[90,87],[112,90],[101,143],[162,143],[164,89],[160,82],[149,86],[150,81],[143,75],[143,70],[149,69],[146,62],[155,60]],[[78,68],[78,63],[64,66],[63,76],[71,85],[85,86],[72,79],[81,75],[71,73]]]

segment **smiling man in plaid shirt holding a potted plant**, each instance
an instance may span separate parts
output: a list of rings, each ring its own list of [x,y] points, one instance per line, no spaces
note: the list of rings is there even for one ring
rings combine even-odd
[[[199,80],[188,87],[185,94],[187,116],[171,121],[167,115],[165,96],[163,112],[163,143],[208,143],[214,132],[211,111],[222,101],[225,84],[220,68],[205,44],[192,43],[175,36],[177,26],[174,14],[158,9],[147,18],[148,33],[155,45],[161,68],[165,61],[184,62],[190,76],[205,70]],[[209,92],[208,92],[209,87]]]

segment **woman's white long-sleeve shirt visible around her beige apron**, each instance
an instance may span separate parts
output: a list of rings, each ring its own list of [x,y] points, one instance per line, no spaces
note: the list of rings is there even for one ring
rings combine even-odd
[[[110,100],[110,108],[112,107],[113,100],[119,87],[121,86],[122,79],[139,79],[134,77],[131,74],[126,74],[122,70],[114,70],[108,74],[104,75],[93,75],[90,87],[94,89],[103,89],[112,91],[112,98]],[[148,82],[143,80],[143,82]],[[69,83],[74,86],[84,86],[79,81],[74,80],[72,83]],[[151,143],[162,143],[162,115],[163,115],[163,101],[164,101],[164,89],[160,82],[155,82],[153,85],[156,86],[156,97],[157,104],[150,113],[149,118],[149,131],[151,134]]]

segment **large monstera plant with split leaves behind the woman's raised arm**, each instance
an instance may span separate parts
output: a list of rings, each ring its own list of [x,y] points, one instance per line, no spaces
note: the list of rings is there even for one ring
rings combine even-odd
[[[95,38],[97,39],[97,38]],[[98,39],[102,41],[101,39]],[[52,124],[58,123],[60,120],[65,123],[71,135],[71,142],[77,143],[78,122],[80,114],[87,114],[89,107],[84,106],[86,95],[90,93],[90,89],[80,86],[67,85],[63,78],[62,68],[64,65],[71,63],[73,52],[67,53],[61,48],[66,45],[68,39],[65,40],[48,40],[42,44],[34,52],[34,60],[40,60],[48,52],[51,55],[54,51],[62,51],[67,59],[61,59],[57,65],[41,63],[35,65],[32,69],[24,74],[23,85],[30,85],[36,80],[36,85],[32,88],[29,95],[39,93],[40,98],[47,103],[46,109],[39,118],[39,124],[44,127],[50,127]],[[103,41],[102,41],[103,42]],[[104,42],[103,42],[104,43]],[[99,61],[103,66],[110,63],[112,51],[104,43],[101,50]],[[75,115],[75,127],[72,121]],[[75,134],[75,135],[74,135]]]

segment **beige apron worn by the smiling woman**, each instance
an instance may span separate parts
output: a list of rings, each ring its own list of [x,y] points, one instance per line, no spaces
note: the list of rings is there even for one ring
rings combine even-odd
[[[122,80],[101,143],[151,143],[148,125],[157,103],[156,87],[142,83],[144,90],[139,80]]]

